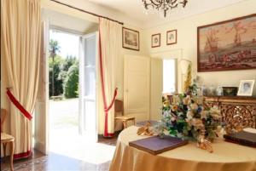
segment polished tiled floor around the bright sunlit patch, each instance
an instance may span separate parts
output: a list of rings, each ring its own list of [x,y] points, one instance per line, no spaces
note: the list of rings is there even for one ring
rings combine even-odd
[[[117,136],[113,139],[99,138],[100,145],[115,145]],[[114,147],[114,146],[113,146]],[[94,149],[98,151],[98,149]],[[94,157],[94,154],[90,154]],[[102,154],[104,155],[104,154]],[[4,159],[1,161],[1,170],[9,170],[9,161]],[[88,171],[107,171],[110,165],[110,161],[94,163],[85,162],[83,160],[67,157],[54,152],[50,152],[48,156],[39,151],[34,151],[33,155],[29,159],[23,159],[15,161],[15,171],[61,171],[61,170],[88,170]]]

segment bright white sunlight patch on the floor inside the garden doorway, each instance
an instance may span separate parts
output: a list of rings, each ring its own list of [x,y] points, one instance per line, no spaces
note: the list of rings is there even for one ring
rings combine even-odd
[[[70,129],[62,129],[62,133],[52,134],[52,136],[57,136],[57,139],[52,139],[49,151],[93,164],[112,160],[115,146],[88,142],[78,134],[68,134],[70,131]],[[66,134],[63,134],[65,132]]]

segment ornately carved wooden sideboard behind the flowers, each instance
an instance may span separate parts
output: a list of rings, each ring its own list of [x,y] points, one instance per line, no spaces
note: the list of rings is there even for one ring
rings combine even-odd
[[[256,128],[256,97],[206,96],[204,105],[217,105],[223,122],[231,127]]]

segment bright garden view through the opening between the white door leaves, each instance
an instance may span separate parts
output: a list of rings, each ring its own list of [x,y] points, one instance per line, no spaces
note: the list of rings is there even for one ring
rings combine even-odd
[[[49,151],[79,136],[79,35],[49,30]],[[70,142],[71,143],[71,142]]]

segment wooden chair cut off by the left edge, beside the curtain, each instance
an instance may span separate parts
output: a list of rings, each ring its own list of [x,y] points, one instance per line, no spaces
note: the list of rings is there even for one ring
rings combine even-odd
[[[3,133],[3,123],[7,117],[7,111],[1,109],[1,145],[3,144],[3,155],[6,157],[6,145],[10,144],[10,169],[14,170],[14,152],[15,152],[15,137],[10,134]]]

